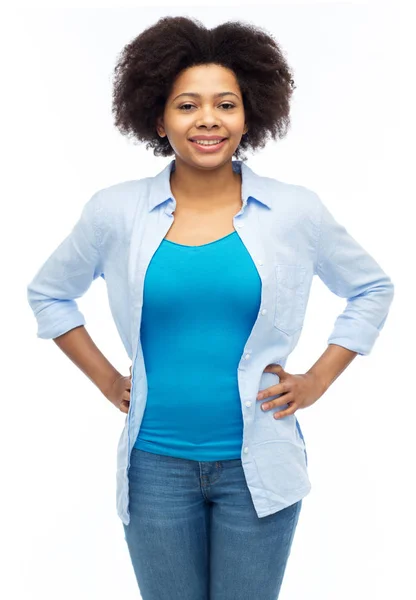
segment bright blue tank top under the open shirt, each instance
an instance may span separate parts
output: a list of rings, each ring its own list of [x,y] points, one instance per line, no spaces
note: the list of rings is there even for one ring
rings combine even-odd
[[[144,282],[148,395],[135,448],[240,458],[237,368],[260,304],[261,279],[236,231],[201,246],[162,240]]]

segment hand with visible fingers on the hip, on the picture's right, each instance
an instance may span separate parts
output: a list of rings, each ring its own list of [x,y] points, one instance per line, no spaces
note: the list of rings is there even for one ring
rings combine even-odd
[[[318,400],[326,391],[322,381],[314,373],[303,373],[300,375],[292,375],[288,373],[278,364],[267,365],[264,369],[265,373],[275,373],[279,376],[279,383],[272,385],[257,395],[257,400],[264,400],[270,396],[282,394],[279,398],[275,398],[270,402],[263,403],[263,410],[277,408],[284,404],[289,404],[285,410],[277,411],[273,416],[275,419],[281,419],[288,415],[292,415],[299,408],[307,408]],[[267,406],[265,406],[267,404]]]

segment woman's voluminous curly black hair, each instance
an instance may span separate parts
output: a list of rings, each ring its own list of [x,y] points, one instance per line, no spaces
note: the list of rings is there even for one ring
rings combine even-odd
[[[291,69],[272,35],[241,21],[213,29],[197,19],[162,17],[119,54],[114,69],[115,126],[123,135],[148,142],[155,156],[172,156],[156,120],[163,115],[175,78],[186,68],[217,64],[231,69],[239,84],[248,132],[234,155],[266,145],[268,135],[283,138],[290,126],[290,99],[296,88]]]

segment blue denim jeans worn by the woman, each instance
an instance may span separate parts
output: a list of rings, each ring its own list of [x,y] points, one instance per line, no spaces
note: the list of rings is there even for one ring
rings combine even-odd
[[[259,518],[241,459],[133,447],[123,527],[143,600],[276,600],[301,505]]]

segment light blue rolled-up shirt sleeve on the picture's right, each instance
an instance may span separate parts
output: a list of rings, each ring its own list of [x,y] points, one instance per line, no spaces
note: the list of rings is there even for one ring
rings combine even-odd
[[[315,274],[337,296],[347,299],[328,344],[367,355],[383,329],[394,285],[375,259],[338,223],[317,196],[320,225]]]

